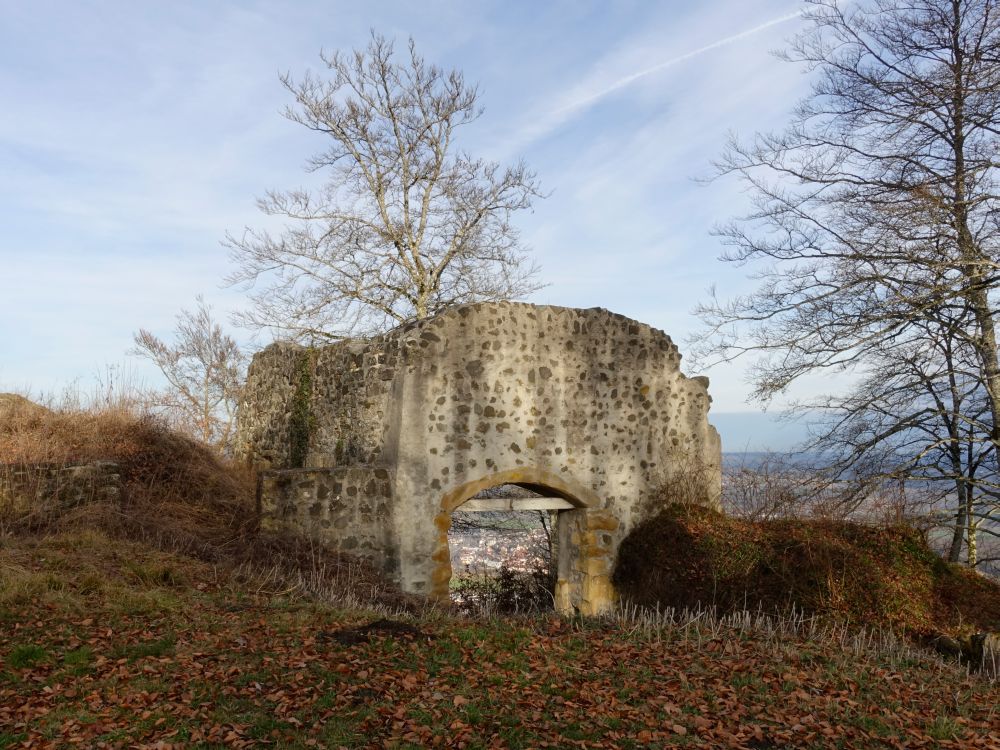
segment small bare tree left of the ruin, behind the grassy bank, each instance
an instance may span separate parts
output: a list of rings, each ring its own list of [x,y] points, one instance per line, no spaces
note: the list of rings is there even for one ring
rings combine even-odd
[[[177,426],[228,452],[247,358],[205,300],[199,296],[197,309],[177,316],[173,343],[144,328],[134,341],[130,353],[150,360],[169,384],[156,406]]]

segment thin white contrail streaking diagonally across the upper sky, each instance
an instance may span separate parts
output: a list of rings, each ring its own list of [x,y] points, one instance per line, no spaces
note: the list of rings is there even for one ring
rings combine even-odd
[[[549,109],[546,113],[542,114],[542,116],[534,119],[530,125],[521,130],[515,136],[513,141],[507,144],[507,150],[512,152],[520,151],[527,145],[545,138],[565,123],[582,115],[602,99],[605,99],[612,94],[631,86],[636,81],[679,65],[680,63],[687,62],[688,60],[704,55],[712,50],[716,50],[720,47],[725,47],[748,37],[752,37],[774,26],[778,26],[779,24],[794,21],[801,17],[801,10],[795,11],[794,13],[786,13],[735,34],[730,34],[729,36],[721,39],[716,39],[715,41],[704,44],[697,49],[689,50],[683,54],[675,55],[674,57],[661,60],[640,70],[622,75],[611,80],[610,82],[607,80],[607,75],[604,74],[603,71],[598,70],[591,73],[580,84],[574,87],[574,89],[565,97],[564,101]]]

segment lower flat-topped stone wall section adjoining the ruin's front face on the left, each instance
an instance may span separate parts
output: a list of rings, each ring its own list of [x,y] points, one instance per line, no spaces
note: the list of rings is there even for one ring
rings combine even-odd
[[[388,469],[264,471],[258,498],[263,530],[293,531],[326,549],[368,560],[387,573],[398,569]]]

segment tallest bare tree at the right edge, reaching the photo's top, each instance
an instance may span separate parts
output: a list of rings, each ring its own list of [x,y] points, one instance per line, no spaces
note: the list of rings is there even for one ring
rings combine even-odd
[[[812,71],[811,95],[784,132],[758,134],[749,143],[734,139],[718,165],[720,174],[742,178],[754,198],[749,215],[720,229],[730,246],[724,259],[760,264],[761,284],[745,297],[700,307],[712,335],[698,355],[728,360],[764,353],[751,372],[754,395],[764,400],[806,373],[858,373],[869,378],[860,397],[877,408],[892,395],[877,387],[881,372],[936,368],[913,355],[929,337],[940,339],[942,326],[952,326],[947,334],[963,353],[963,378],[983,397],[961,401],[960,421],[985,431],[995,467],[997,5],[869,0],[841,7],[837,0],[811,0],[809,6],[811,27],[785,57]],[[936,383],[948,375],[914,374]],[[974,402],[985,404],[985,415],[967,410],[979,408]],[[848,401],[829,405],[854,408]],[[940,419],[954,406],[935,412],[940,430],[947,431]],[[874,456],[887,437],[875,432],[855,448]],[[941,445],[955,443],[948,438]],[[917,455],[922,450],[910,447]]]

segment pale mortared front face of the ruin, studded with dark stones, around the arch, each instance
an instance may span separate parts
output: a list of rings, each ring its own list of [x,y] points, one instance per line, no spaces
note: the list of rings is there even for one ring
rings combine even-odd
[[[415,564],[402,574],[415,590],[444,585],[448,571],[416,562],[428,559],[435,514],[483,477],[544,472],[581,485],[592,510],[618,520],[616,546],[676,475],[718,465],[705,384],[680,374],[676,347],[648,326],[603,310],[492,304],[429,321],[426,333],[438,340],[404,360],[385,441],[396,497],[411,506],[402,552]]]

